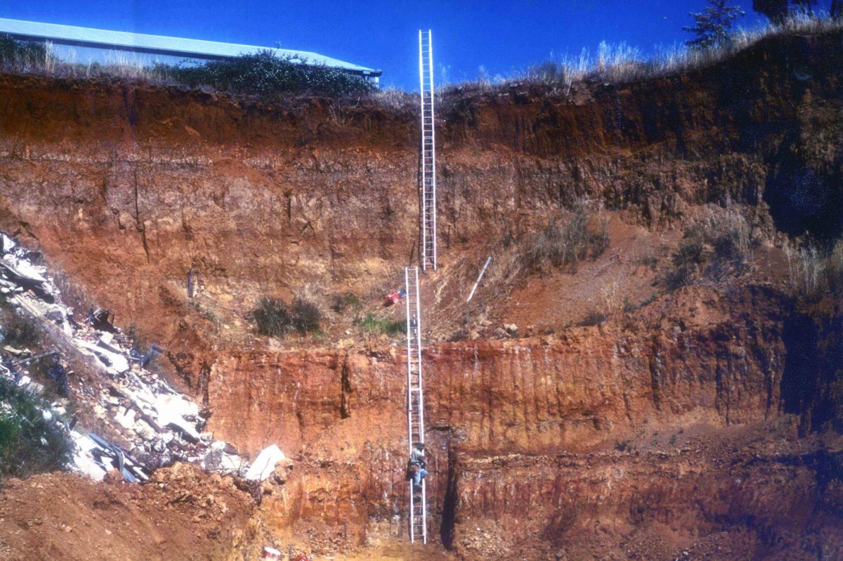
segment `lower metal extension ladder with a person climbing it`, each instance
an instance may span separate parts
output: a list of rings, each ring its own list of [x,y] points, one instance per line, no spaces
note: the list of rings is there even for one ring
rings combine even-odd
[[[419,304],[418,267],[404,269],[407,291],[407,433],[409,450],[424,443],[424,394],[421,391],[421,305]],[[427,484],[421,480],[421,495],[413,493],[410,482],[410,541],[427,543]]]

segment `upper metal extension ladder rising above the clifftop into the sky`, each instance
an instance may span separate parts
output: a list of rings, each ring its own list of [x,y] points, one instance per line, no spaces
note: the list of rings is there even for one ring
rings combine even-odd
[[[419,30],[421,82],[421,270],[436,270],[436,133],[433,120],[433,36]]]

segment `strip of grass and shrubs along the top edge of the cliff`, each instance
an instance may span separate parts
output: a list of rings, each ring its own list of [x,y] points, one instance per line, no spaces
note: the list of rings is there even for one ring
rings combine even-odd
[[[831,19],[819,13],[793,13],[781,24],[766,24],[756,29],[738,29],[730,40],[708,49],[668,46],[657,49],[652,57],[644,57],[636,46],[625,42],[609,44],[601,41],[592,52],[583,48],[577,55],[552,57],[524,70],[508,75],[490,76],[481,67],[478,78],[459,84],[448,84],[447,76],[439,79],[439,92],[458,95],[463,89],[492,90],[514,84],[534,84],[550,93],[570,94],[573,84],[596,81],[604,84],[625,84],[658,78],[711,66],[733,57],[738,51],[767,37],[793,34],[819,34],[843,29],[843,19]],[[14,40],[0,35],[0,71],[38,74],[56,78],[120,78],[139,80],[153,85],[184,85],[194,89],[211,89],[230,94],[323,95],[327,97],[371,96],[392,109],[412,109],[416,94],[396,89],[378,90],[365,78],[320,66],[303,66],[272,51],[260,51],[224,61],[212,61],[191,67],[184,64],[143,67],[127,57],[115,63],[74,64],[57,59],[50,48],[34,42]]]

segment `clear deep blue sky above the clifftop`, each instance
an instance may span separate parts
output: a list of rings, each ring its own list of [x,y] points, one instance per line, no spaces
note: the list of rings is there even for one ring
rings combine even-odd
[[[751,0],[745,26],[761,19]],[[827,3],[827,2],[826,2]],[[0,0],[0,17],[316,51],[384,71],[382,84],[418,89],[420,28],[433,30],[435,78],[510,74],[555,53],[626,41],[645,54],[687,40],[705,0]]]

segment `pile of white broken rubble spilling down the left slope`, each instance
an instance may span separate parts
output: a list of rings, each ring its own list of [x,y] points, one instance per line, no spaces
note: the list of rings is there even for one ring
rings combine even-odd
[[[0,293],[13,305],[45,321],[51,332],[79,353],[96,359],[105,381],[98,388],[83,387],[81,391],[93,402],[95,415],[129,443],[116,445],[70,426],[76,445],[74,470],[101,481],[114,469],[131,482],[146,480],[158,467],[175,461],[239,476],[249,472],[249,462],[238,456],[233,446],[202,431],[206,419],[196,403],[147,369],[164,349],[153,344],[143,353],[132,337],[113,325],[108,310],[91,310],[79,321],[73,310],[62,304],[61,293],[47,276],[46,267],[35,264],[40,254],[16,244],[8,235],[0,235],[0,240]],[[31,356],[28,349],[3,348],[0,374],[40,393],[43,386],[31,380],[24,367],[27,361],[46,359],[47,355],[52,355],[49,358],[55,363],[50,375],[67,388],[67,375],[72,372],[68,373],[56,359],[56,350]],[[20,359],[22,356],[24,359]],[[53,413],[65,413],[62,402],[53,404]],[[266,469],[261,467],[261,471]]]

